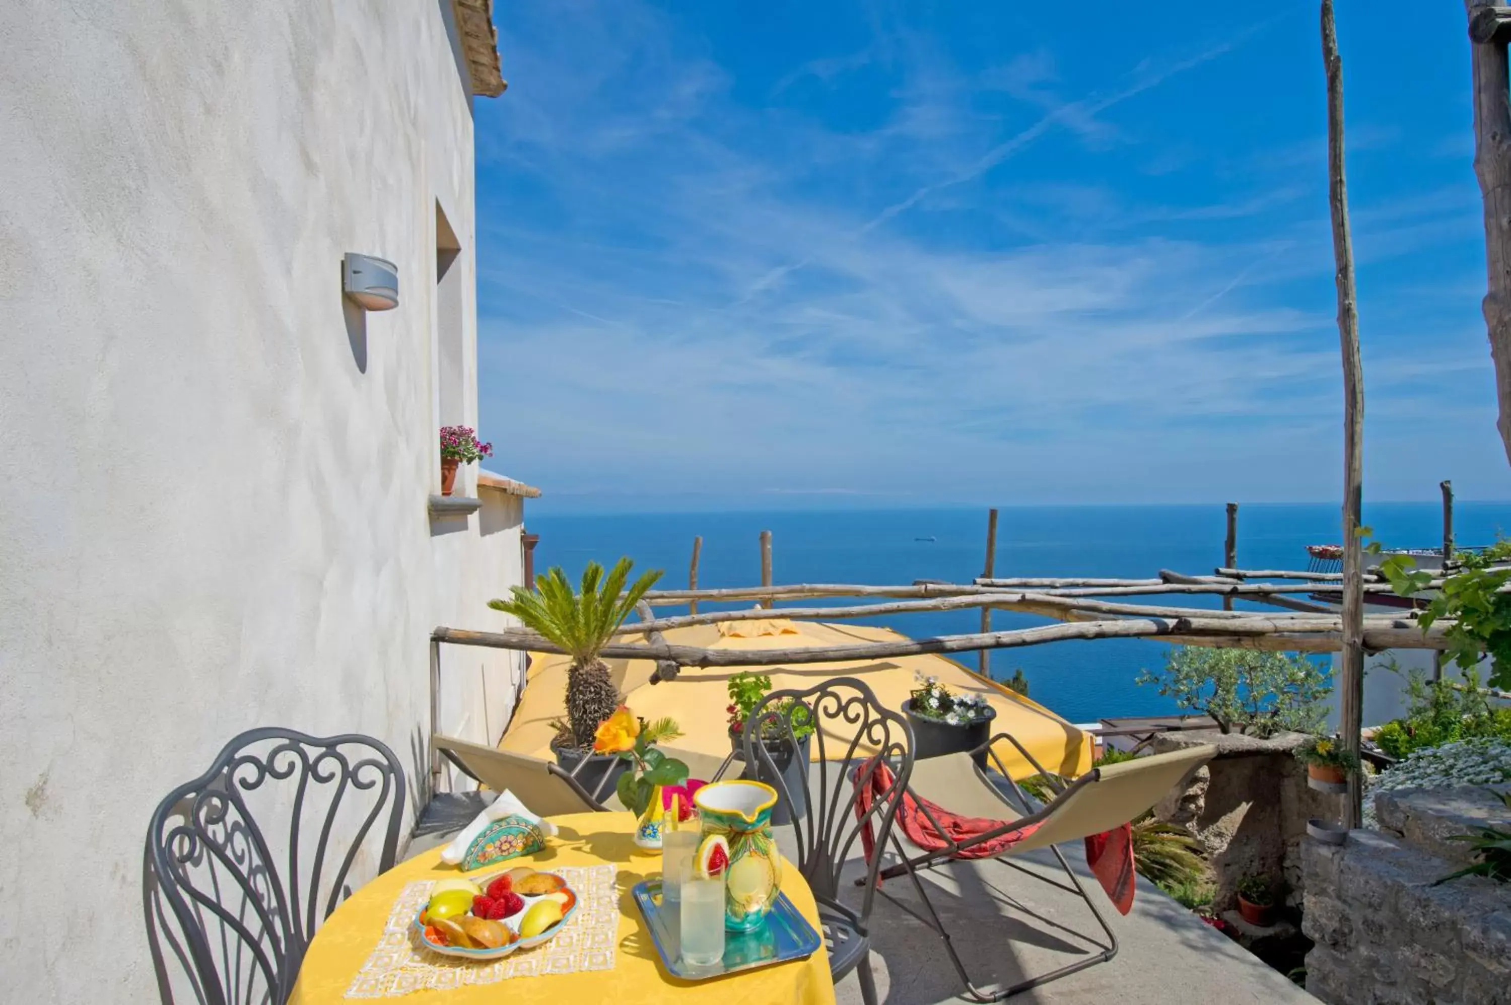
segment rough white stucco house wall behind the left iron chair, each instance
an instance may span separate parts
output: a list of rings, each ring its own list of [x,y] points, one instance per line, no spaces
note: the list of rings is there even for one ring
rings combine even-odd
[[[473,121],[447,11],[0,5],[5,1000],[154,1000],[154,804],[255,725],[423,762],[431,629],[502,624],[484,603],[518,582],[520,500],[426,509],[437,201],[476,416]],[[399,264],[397,310],[345,305],[346,251]],[[496,736],[517,665],[452,666],[441,727]],[[60,877],[88,896],[66,920]],[[41,937],[48,917],[66,939]]]

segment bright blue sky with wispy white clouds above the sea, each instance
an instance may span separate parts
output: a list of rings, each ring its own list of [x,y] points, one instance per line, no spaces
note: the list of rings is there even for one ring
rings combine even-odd
[[[1316,5],[1098,12],[499,8],[494,467],[552,509],[1337,499]],[[1339,35],[1366,499],[1511,497],[1463,9]]]

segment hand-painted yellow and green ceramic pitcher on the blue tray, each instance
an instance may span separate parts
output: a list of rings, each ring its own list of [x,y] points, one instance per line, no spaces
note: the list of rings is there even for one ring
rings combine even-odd
[[[692,798],[703,816],[703,837],[730,845],[724,886],[724,926],[748,932],[766,920],[781,886],[781,852],[771,836],[777,790],[760,781],[715,781]]]

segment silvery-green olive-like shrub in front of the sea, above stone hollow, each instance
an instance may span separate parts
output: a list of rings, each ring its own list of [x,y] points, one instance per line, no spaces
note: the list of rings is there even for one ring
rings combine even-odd
[[[1142,671],[1138,683],[1157,686],[1182,709],[1210,715],[1224,733],[1236,728],[1259,738],[1321,733],[1322,700],[1333,692],[1322,668],[1306,656],[1183,645],[1170,651],[1162,671]]]

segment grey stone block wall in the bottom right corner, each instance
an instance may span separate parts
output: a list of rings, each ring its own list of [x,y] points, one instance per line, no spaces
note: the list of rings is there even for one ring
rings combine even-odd
[[[1481,789],[1383,793],[1383,827],[1304,842],[1307,991],[1330,1005],[1511,1003],[1511,886],[1464,877],[1469,822],[1511,825]]]

